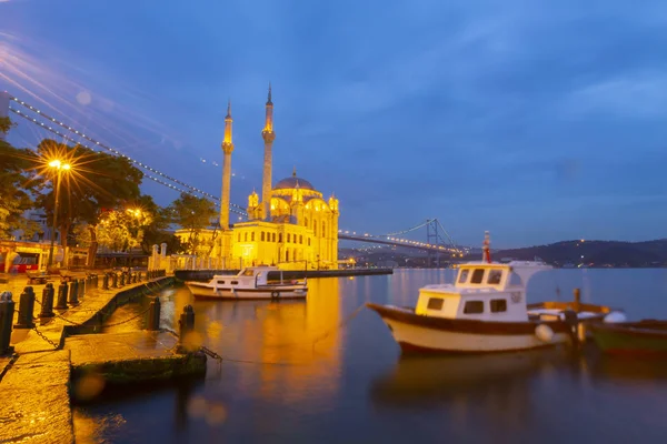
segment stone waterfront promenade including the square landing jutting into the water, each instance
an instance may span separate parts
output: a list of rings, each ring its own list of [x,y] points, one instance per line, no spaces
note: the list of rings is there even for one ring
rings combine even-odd
[[[13,293],[16,325],[27,278],[14,275],[3,281],[0,291]],[[78,306],[54,310],[57,315],[44,323],[39,320],[41,306],[36,303],[36,327],[14,327],[14,353],[0,357],[0,442],[73,442],[70,396],[92,397],[108,382],[171,377],[180,371],[205,372],[203,356],[176,353],[178,337],[170,332],[80,334],[100,332],[117,306],[157,294],[171,282],[172,278],[157,278],[120,289],[91,289]],[[32,286],[41,301],[44,285]]]

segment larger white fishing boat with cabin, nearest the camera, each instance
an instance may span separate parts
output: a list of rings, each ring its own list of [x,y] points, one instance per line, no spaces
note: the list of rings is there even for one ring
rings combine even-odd
[[[484,260],[461,264],[454,284],[426,285],[415,307],[366,305],[388,325],[404,352],[488,353],[531,350],[580,340],[579,323],[600,321],[603,305],[526,304],[541,261],[491,262],[488,232]],[[578,302],[578,301],[576,301]],[[563,305],[564,304],[564,305]],[[579,310],[573,310],[579,309]]]

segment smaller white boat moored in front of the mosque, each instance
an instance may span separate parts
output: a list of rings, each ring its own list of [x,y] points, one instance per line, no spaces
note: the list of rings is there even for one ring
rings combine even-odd
[[[308,282],[296,280],[276,282],[268,280],[269,272],[279,272],[277,266],[248,266],[238,274],[217,274],[209,282],[188,281],[186,285],[195,299],[211,300],[281,300],[306,299]]]

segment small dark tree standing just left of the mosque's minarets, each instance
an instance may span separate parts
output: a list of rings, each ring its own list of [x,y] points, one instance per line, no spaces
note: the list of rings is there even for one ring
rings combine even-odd
[[[168,209],[171,222],[188,230],[187,251],[195,254],[200,244],[199,233],[211,224],[211,219],[217,215],[216,206],[206,198],[181,193],[180,198],[171,203]]]

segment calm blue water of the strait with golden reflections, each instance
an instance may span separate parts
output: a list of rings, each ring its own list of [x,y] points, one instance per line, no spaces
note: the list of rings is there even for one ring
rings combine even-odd
[[[193,302],[165,291],[162,326],[193,304],[209,360],[206,380],[132,390],[76,408],[78,442],[112,443],[665,443],[667,363],[563,351],[400,359],[367,301],[414,304],[451,270],[309,280],[309,301]],[[667,319],[667,270],[555,270],[528,301],[571,299]],[[557,290],[559,289],[559,291]],[[560,296],[558,296],[558,293]],[[137,313],[120,309],[109,322]],[[141,327],[140,323],[135,324]],[[176,330],[176,329],[175,329]]]

